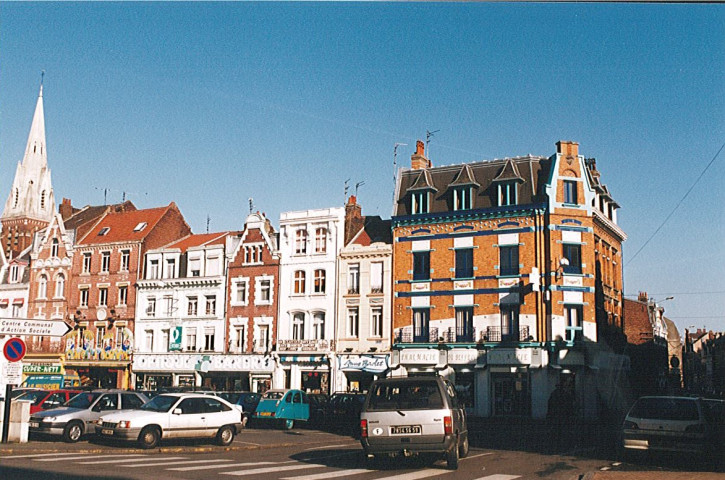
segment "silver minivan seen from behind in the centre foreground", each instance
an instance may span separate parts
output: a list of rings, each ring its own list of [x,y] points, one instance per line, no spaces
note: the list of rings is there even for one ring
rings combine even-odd
[[[468,455],[466,412],[441,377],[376,380],[360,415],[360,443],[368,460],[403,453],[445,456],[449,469]]]

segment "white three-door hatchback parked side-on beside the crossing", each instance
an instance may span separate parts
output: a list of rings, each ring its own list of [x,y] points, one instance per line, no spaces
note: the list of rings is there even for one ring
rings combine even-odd
[[[164,393],[137,410],[102,415],[96,422],[102,438],[138,442],[156,447],[162,438],[216,438],[230,445],[242,431],[242,408],[200,393]]]

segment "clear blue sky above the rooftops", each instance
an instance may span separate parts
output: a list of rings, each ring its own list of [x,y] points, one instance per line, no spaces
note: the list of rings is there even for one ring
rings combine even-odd
[[[621,204],[625,293],[725,331],[725,8],[611,3],[0,5],[0,195],[44,70],[57,201],[176,202],[197,233],[255,210],[390,217],[409,166],[574,140]],[[5,192],[5,193],[3,193]]]

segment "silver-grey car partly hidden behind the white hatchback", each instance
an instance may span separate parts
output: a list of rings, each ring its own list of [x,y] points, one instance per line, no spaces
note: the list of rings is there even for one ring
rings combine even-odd
[[[66,442],[77,442],[83,435],[95,433],[95,421],[111,410],[139,408],[148,401],[146,395],[127,390],[92,390],[82,392],[62,407],[30,416],[31,434],[58,435]]]

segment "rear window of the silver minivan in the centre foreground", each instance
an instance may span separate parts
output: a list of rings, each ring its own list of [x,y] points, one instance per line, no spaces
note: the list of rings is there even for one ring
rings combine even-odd
[[[378,384],[370,395],[371,410],[416,410],[443,408],[436,383],[387,382]]]

